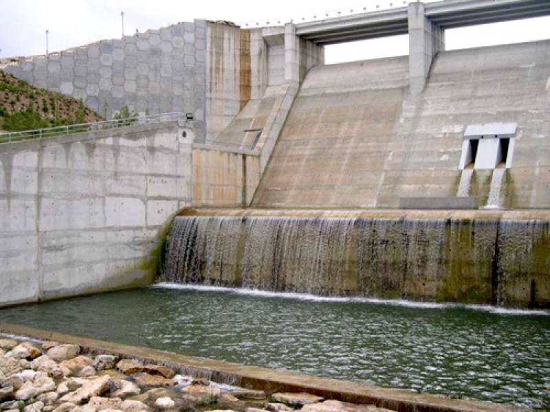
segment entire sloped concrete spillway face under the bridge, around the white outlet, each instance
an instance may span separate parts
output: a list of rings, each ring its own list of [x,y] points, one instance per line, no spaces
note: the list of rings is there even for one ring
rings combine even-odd
[[[417,96],[407,72],[406,57],[309,71],[252,204],[380,208],[456,196],[465,128],[515,122],[503,206],[550,207],[550,41],[439,52]],[[480,206],[490,181],[490,170],[474,171]]]

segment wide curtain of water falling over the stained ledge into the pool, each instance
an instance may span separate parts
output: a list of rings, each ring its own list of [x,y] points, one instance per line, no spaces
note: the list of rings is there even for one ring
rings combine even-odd
[[[527,306],[549,266],[547,221],[181,216],[162,280]]]

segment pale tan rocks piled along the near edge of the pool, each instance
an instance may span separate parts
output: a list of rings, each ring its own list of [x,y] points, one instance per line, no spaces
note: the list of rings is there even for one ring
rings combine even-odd
[[[384,412],[309,393],[265,393],[177,374],[78,345],[0,339],[5,412]]]

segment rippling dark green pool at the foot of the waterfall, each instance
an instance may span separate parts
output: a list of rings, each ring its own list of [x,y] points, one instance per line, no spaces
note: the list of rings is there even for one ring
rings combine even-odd
[[[0,319],[223,361],[550,407],[544,313],[138,288],[8,308]]]

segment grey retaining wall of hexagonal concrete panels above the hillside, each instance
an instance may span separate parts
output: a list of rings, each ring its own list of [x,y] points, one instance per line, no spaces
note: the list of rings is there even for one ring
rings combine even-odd
[[[104,117],[128,106],[140,113],[194,113],[205,130],[206,21],[178,23],[10,64],[5,71],[83,102]]]

